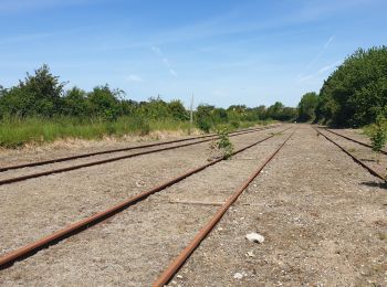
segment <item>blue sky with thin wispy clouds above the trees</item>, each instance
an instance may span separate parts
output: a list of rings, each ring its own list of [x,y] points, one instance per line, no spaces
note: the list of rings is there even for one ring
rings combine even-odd
[[[296,106],[357,47],[387,44],[387,1],[0,0],[0,85],[43,63],[90,91],[228,107]]]

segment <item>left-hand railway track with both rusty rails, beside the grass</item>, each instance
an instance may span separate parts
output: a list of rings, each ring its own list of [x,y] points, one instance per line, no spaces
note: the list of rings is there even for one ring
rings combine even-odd
[[[251,134],[251,132],[257,132],[265,129],[271,129],[275,128],[278,126],[269,126],[269,127],[263,127],[263,128],[252,128],[252,129],[247,129],[247,130],[241,130],[241,131],[236,131],[230,134],[230,137],[237,137],[245,134]],[[206,139],[201,139],[206,138]],[[4,184],[10,184],[13,182],[20,182],[29,179],[34,179],[34,178],[40,178],[49,174],[54,174],[54,173],[60,173],[60,172],[66,172],[71,170],[76,170],[81,168],[86,168],[86,167],[93,167],[97,164],[103,164],[103,163],[108,163],[117,160],[123,160],[123,159],[128,159],[128,158],[134,158],[143,155],[149,155],[149,153],[155,153],[155,152],[160,152],[165,150],[171,150],[171,149],[177,149],[177,148],[182,148],[182,147],[188,147],[188,146],[194,146],[194,145],[199,145],[202,142],[211,141],[213,139],[218,139],[219,137],[216,135],[208,135],[208,136],[201,136],[201,137],[196,137],[196,138],[188,138],[188,139],[179,139],[179,140],[172,140],[172,141],[166,141],[166,142],[156,142],[156,144],[150,144],[150,145],[144,145],[144,146],[137,146],[137,147],[129,147],[129,148],[124,148],[124,149],[115,149],[115,150],[106,150],[106,151],[100,151],[100,152],[92,152],[92,153],[84,153],[80,156],[74,156],[74,157],[67,157],[67,158],[61,158],[61,159],[54,159],[54,160],[48,160],[48,161],[40,161],[40,162],[31,162],[31,163],[25,163],[25,164],[20,164],[20,166],[12,166],[12,167],[4,167],[1,168],[1,171],[7,171],[7,170],[14,170],[14,169],[21,169],[21,168],[27,168],[27,167],[38,167],[38,166],[43,166],[43,164],[49,164],[49,163],[55,163],[55,162],[61,162],[61,161],[69,161],[69,160],[74,160],[74,159],[80,159],[80,158],[85,158],[85,157],[92,157],[92,156],[98,156],[98,155],[105,155],[105,153],[113,153],[113,152],[119,152],[119,151],[129,151],[134,149],[145,149],[149,147],[157,147],[157,146],[164,146],[164,145],[170,145],[170,144],[177,144],[180,141],[187,141],[187,140],[195,140],[195,139],[200,139],[194,142],[188,142],[188,144],[181,144],[181,145],[175,145],[175,146],[168,146],[168,147],[163,147],[163,148],[157,148],[157,149],[151,149],[151,150],[145,150],[145,151],[139,151],[130,155],[124,155],[119,157],[113,157],[113,158],[107,158],[107,159],[102,159],[102,160],[95,160],[95,161],[90,161],[86,163],[80,163],[80,164],[74,164],[70,167],[64,167],[64,168],[56,168],[56,169],[51,169],[46,170],[43,172],[35,172],[35,173],[30,173],[27,176],[18,176],[18,177],[12,177],[12,178],[7,178],[7,179],[1,179],[0,180],[0,185]]]

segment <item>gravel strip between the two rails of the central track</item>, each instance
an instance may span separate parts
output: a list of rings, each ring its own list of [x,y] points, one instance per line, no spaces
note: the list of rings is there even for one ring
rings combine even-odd
[[[257,138],[238,139],[245,146]],[[14,264],[2,272],[0,284],[148,286],[218,209],[176,201],[224,201],[257,160],[262,161],[283,138],[275,136],[148,198],[106,224]]]

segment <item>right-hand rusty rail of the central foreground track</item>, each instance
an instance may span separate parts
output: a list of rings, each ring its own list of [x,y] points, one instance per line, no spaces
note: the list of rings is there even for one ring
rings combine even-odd
[[[294,130],[295,131],[295,130]],[[163,274],[153,284],[154,287],[163,287],[174,277],[174,275],[181,268],[184,263],[195,252],[199,244],[213,230],[217,223],[221,220],[229,208],[237,201],[239,195],[249,187],[249,184],[258,177],[262,169],[275,157],[275,155],[285,146],[294,131],[284,140],[284,142],[275,149],[273,153],[265,159],[265,161],[249,177],[245,182],[226,201],[226,203],[217,211],[209,222],[197,233],[194,240],[186,246],[186,248],[171,262],[171,264],[163,272]]]

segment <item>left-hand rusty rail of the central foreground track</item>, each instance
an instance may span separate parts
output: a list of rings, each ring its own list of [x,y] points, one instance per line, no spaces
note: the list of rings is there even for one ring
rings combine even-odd
[[[283,131],[289,130],[289,129],[290,128],[283,129],[280,132],[283,132]],[[259,145],[259,144],[261,144],[261,142],[263,142],[272,137],[274,137],[274,135],[270,135],[269,137],[260,139],[260,140],[255,141],[255,142],[253,142],[244,148],[241,148],[241,149],[234,151],[232,153],[232,156],[238,155],[238,153],[240,153],[249,148],[252,148],[252,147],[254,147],[254,146],[257,146],[257,145]],[[88,217],[83,219],[79,222],[70,224],[66,227],[64,227],[55,233],[52,233],[51,235],[48,235],[41,240],[38,240],[33,243],[30,243],[23,247],[17,248],[13,252],[7,253],[7,254],[0,256],[0,269],[4,269],[4,268],[11,266],[17,261],[21,261],[21,259],[24,259],[27,257],[30,257],[31,255],[33,255],[34,253],[36,253],[38,251],[40,251],[42,248],[45,248],[50,245],[53,245],[53,244],[55,244],[64,238],[70,237],[71,235],[77,234],[77,233],[100,223],[100,222],[103,222],[103,221],[112,217],[113,215],[126,210],[127,208],[136,204],[137,202],[147,199],[149,195],[151,195],[156,192],[159,192],[161,190],[165,190],[168,187],[171,187],[175,183],[177,183],[177,182],[179,182],[179,181],[181,181],[181,180],[184,180],[184,179],[186,179],[195,173],[198,173],[199,171],[202,171],[206,168],[211,167],[211,166],[213,166],[213,164],[216,164],[224,159],[226,158],[220,158],[220,159],[217,159],[215,161],[208,162],[203,166],[200,166],[198,168],[191,169],[191,170],[189,170],[189,171],[187,171],[187,172],[185,172],[185,173],[182,173],[182,174],[180,174],[180,176],[178,176],[169,181],[166,181],[166,182],[164,182],[164,183],[161,183],[161,184],[159,184],[159,185],[157,185],[148,191],[144,191],[144,192],[138,193],[134,196],[130,196],[127,200],[114,205],[113,208],[109,208],[105,211],[98,212],[92,216],[88,216]]]

